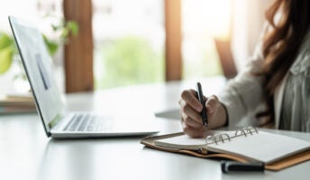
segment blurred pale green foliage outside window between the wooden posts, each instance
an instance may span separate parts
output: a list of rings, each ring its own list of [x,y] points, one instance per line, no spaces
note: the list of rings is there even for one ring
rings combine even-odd
[[[123,36],[104,44],[96,76],[96,88],[160,82],[164,78],[164,57],[148,40]],[[100,66],[102,65],[102,66]]]

